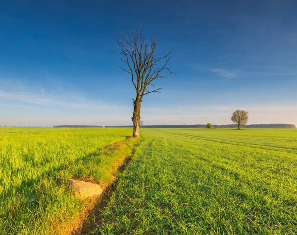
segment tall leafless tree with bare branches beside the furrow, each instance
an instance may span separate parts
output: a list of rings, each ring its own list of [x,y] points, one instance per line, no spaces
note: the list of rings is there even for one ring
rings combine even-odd
[[[144,29],[139,30],[131,28],[129,33],[125,28],[118,35],[114,34],[114,38],[120,47],[119,52],[111,50],[113,53],[122,55],[120,60],[124,62],[125,67],[119,66],[120,69],[131,75],[132,83],[136,90],[136,96],[133,99],[133,136],[139,135],[140,110],[141,102],[145,95],[153,92],[160,92],[160,88],[153,85],[153,81],[157,78],[167,78],[163,75],[164,71],[169,74],[175,74],[167,68],[167,63],[171,58],[171,51],[166,55],[157,57],[155,55],[158,42],[154,38],[150,43],[146,43],[143,34]],[[162,64],[160,64],[163,62]],[[149,89],[149,87],[153,87]]]

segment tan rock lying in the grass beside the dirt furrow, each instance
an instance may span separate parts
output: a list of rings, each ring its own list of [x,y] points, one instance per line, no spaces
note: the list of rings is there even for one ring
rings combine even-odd
[[[85,199],[90,196],[100,196],[103,192],[102,188],[98,184],[93,184],[81,180],[74,179],[59,179],[58,184],[66,183],[79,199]]]

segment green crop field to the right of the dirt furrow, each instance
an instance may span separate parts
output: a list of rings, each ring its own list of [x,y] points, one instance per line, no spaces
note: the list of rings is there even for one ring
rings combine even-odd
[[[91,233],[296,234],[296,129],[141,133]]]

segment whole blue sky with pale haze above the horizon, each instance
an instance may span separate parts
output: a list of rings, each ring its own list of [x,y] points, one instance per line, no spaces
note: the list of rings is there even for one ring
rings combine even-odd
[[[244,3],[245,2],[245,3]],[[0,124],[132,124],[134,87],[113,32],[144,26],[176,76],[145,124],[297,124],[297,2],[11,0],[0,3]]]

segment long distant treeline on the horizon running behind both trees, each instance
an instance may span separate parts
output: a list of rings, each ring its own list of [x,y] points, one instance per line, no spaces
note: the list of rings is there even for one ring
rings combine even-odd
[[[143,125],[142,128],[205,128],[206,124],[196,125]],[[105,126],[105,127],[133,127],[132,125],[126,126]],[[296,128],[294,124],[251,124],[246,125],[246,128]],[[227,125],[212,125],[212,128],[236,128],[234,124]]]

